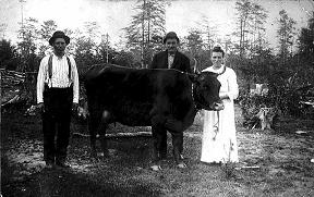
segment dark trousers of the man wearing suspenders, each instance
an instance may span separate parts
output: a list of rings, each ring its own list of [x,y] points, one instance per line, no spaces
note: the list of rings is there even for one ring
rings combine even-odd
[[[64,162],[70,138],[72,88],[45,87],[43,113],[44,160]]]

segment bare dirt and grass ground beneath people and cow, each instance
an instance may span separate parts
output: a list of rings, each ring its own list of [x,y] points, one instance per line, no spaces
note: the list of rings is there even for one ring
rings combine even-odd
[[[2,113],[1,194],[7,196],[314,196],[314,121],[281,118],[275,131],[241,126],[237,108],[240,163],[200,162],[202,114],[184,133],[186,169],[169,159],[161,171],[149,170],[150,137],[110,138],[110,158],[89,159],[89,139],[72,134],[70,170],[44,168],[41,120],[24,110]],[[109,132],[145,127],[111,125]],[[85,133],[85,125],[72,124]],[[99,146],[99,144],[98,144]],[[100,150],[100,149],[99,149]],[[101,158],[101,157],[100,157]]]

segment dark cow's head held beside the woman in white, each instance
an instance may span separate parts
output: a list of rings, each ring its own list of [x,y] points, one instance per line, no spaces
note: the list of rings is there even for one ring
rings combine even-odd
[[[203,72],[190,75],[193,86],[193,97],[196,108],[205,110],[222,110],[224,104],[219,98],[220,83],[218,74]]]

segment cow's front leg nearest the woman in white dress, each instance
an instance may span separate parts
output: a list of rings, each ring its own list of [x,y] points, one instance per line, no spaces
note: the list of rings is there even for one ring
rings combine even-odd
[[[172,135],[172,146],[173,146],[173,158],[179,168],[186,168],[185,163],[181,158],[183,148],[183,132],[171,133]]]

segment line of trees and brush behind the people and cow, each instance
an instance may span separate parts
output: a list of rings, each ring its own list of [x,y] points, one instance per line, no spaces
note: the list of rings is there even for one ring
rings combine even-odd
[[[241,93],[247,93],[247,84],[268,83],[273,95],[283,96],[282,89],[293,89],[314,82],[314,12],[307,26],[295,29],[297,22],[285,10],[278,13],[276,48],[266,39],[268,12],[256,1],[238,0],[235,3],[237,28],[225,38],[217,35],[217,26],[203,16],[189,34],[180,37],[180,48],[191,59],[196,59],[198,70],[209,66],[210,49],[219,44],[227,52],[226,64],[239,75]],[[154,53],[162,50],[166,34],[166,9],[168,0],[137,0],[131,23],[122,30],[125,45],[117,48],[110,36],[100,32],[96,22],[86,22],[81,29],[63,29],[71,38],[69,52],[75,56],[80,73],[93,64],[113,63],[129,67],[147,67]],[[5,27],[5,24],[1,24]],[[5,28],[0,28],[0,30]],[[51,52],[48,39],[58,24],[52,21],[24,20],[19,29],[19,41],[0,41],[0,67],[34,72],[40,59]],[[180,33],[178,33],[180,36]],[[289,86],[289,87],[288,87]],[[285,101],[277,101],[282,102]]]

